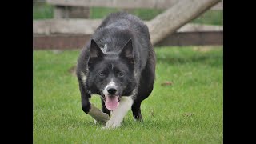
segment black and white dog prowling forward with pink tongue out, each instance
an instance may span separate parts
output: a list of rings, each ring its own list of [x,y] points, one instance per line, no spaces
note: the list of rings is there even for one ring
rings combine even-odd
[[[82,110],[88,114],[91,94],[99,94],[105,128],[121,126],[128,110],[142,122],[140,106],[154,86],[155,54],[147,26],[134,15],[110,14],[78,58]]]

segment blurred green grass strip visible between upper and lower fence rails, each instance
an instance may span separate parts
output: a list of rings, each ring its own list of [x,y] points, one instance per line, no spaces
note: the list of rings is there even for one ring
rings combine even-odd
[[[105,18],[106,15],[119,11],[118,8],[106,8],[106,7],[92,7],[90,8],[90,18],[98,19]],[[33,19],[47,19],[53,18],[54,6],[46,3],[36,3],[33,6]],[[142,20],[150,20],[162,13],[164,10],[154,9],[134,9],[129,10],[130,14],[134,14]],[[194,19],[192,23],[200,23],[207,25],[223,25],[223,11],[222,10],[208,10],[198,18]]]

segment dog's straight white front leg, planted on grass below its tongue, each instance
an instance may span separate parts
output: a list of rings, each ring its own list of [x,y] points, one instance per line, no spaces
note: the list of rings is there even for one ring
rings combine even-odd
[[[117,128],[121,126],[122,119],[126,116],[128,110],[130,110],[134,100],[131,97],[120,98],[119,106],[113,111],[112,116],[104,128]]]

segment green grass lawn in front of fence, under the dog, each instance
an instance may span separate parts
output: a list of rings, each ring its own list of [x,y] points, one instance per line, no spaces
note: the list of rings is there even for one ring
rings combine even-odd
[[[142,102],[143,123],[131,110],[122,127],[101,130],[83,113],[78,82],[68,70],[79,50],[34,50],[34,143],[223,143],[222,47],[162,47],[156,81]],[[162,82],[173,82],[161,86]],[[100,107],[100,99],[92,98]]]

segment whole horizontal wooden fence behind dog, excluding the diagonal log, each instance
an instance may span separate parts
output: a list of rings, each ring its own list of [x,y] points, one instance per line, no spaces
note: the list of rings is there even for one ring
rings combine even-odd
[[[118,7],[122,9],[154,8],[166,9],[174,6],[178,0],[47,0],[54,5],[54,19],[33,22],[33,47],[37,49],[80,49],[102,19],[84,18],[93,6]],[[222,2],[212,10],[222,10]],[[77,12],[74,12],[77,10]],[[87,11],[86,11],[87,10]],[[87,15],[86,15],[87,14]],[[74,16],[74,18],[73,18]],[[147,24],[148,22],[146,22]],[[186,24],[158,42],[156,46],[222,45],[222,26],[204,26]]]

